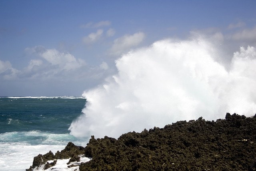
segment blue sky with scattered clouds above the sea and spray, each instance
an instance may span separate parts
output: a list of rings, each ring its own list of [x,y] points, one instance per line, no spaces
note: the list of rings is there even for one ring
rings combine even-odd
[[[80,96],[131,50],[195,35],[228,64],[256,47],[256,1],[0,0],[0,96]]]

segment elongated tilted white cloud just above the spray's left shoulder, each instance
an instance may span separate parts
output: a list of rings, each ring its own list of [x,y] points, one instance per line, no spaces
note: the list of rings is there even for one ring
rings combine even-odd
[[[138,32],[133,35],[124,35],[114,40],[114,44],[110,49],[110,54],[120,55],[134,46],[138,46],[145,38],[143,32]]]

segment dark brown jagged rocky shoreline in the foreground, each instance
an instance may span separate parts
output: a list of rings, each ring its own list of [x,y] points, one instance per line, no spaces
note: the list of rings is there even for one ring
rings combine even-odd
[[[256,115],[227,113],[225,119],[216,121],[200,117],[141,133],[125,133],[118,139],[92,136],[86,147],[70,142],[55,155],[51,151],[39,154],[26,171],[41,165],[48,169],[56,159],[70,158],[70,164],[79,161],[81,155],[92,160],[81,163],[80,171],[255,171]]]

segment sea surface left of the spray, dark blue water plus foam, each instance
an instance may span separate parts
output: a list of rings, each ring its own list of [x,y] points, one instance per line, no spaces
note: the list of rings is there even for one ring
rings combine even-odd
[[[69,141],[86,146],[88,138],[68,131],[85,103],[73,96],[0,97],[0,170],[25,171],[39,153],[56,153]]]

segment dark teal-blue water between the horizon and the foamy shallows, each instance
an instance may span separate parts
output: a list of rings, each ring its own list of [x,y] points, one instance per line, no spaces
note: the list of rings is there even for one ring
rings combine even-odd
[[[86,99],[78,97],[0,98],[0,133],[48,131],[68,133]]]

